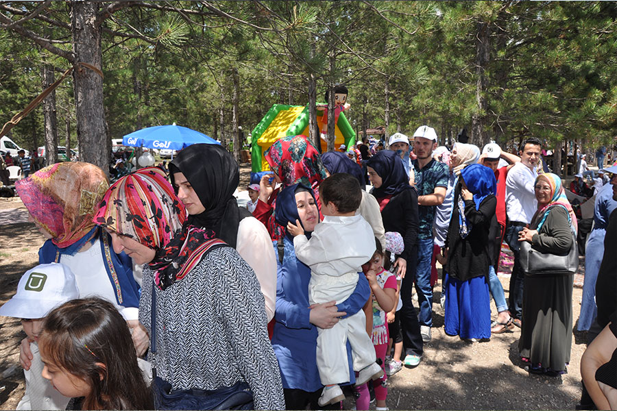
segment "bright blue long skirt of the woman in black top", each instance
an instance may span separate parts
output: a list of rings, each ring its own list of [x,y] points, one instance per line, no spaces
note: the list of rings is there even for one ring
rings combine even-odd
[[[491,338],[491,301],[486,277],[459,281],[446,274],[446,334]]]

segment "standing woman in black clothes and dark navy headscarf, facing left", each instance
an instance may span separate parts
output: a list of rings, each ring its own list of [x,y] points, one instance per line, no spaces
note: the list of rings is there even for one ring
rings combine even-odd
[[[398,232],[403,238],[404,250],[396,256],[397,279],[407,273],[400,286],[400,323],[405,349],[404,364],[417,366],[422,359],[423,347],[418,314],[413,307],[411,288],[415,273],[415,245],[418,238],[418,192],[409,185],[400,157],[394,151],[379,151],[367,161],[371,194],[377,199],[386,232]],[[396,321],[396,320],[395,320]]]

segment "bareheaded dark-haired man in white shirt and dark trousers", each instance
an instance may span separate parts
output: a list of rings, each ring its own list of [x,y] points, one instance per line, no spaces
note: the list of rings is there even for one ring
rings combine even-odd
[[[508,225],[505,240],[514,253],[514,266],[510,277],[508,297],[509,311],[514,325],[520,327],[522,318],[522,292],[524,274],[520,269],[520,242],[518,232],[529,226],[531,217],[537,210],[534,184],[537,177],[536,166],[540,161],[542,143],[537,138],[528,138],[520,145],[520,162],[508,172],[506,178],[506,210]]]

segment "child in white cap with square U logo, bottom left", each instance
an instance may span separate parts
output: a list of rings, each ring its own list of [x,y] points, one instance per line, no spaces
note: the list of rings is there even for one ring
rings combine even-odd
[[[68,397],[54,389],[43,378],[43,362],[38,352],[38,334],[43,327],[45,316],[62,303],[80,295],[75,275],[64,264],[52,262],[39,264],[21,276],[16,294],[0,307],[0,315],[21,319],[23,331],[31,341],[32,366],[25,375],[25,394],[17,410],[64,410]]]

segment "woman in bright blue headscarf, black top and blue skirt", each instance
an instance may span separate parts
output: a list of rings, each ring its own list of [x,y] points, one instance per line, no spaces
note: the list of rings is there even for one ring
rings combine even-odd
[[[446,238],[446,334],[491,337],[488,233],[497,225],[496,191],[495,175],[488,167],[472,164],[461,170]]]

